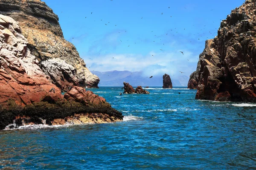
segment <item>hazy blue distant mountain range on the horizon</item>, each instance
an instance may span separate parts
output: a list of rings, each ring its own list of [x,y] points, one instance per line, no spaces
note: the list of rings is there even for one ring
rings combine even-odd
[[[154,76],[151,79],[144,76],[142,71],[91,71],[96,74],[100,83],[99,86],[123,86],[123,82],[129,82],[130,85],[136,87],[141,86],[163,86],[163,75]],[[167,73],[168,74],[168,73]],[[171,75],[170,75],[171,76]],[[171,76],[172,79],[172,76]],[[174,87],[186,87],[189,81],[187,76],[179,76],[178,79],[172,79],[172,86]]]

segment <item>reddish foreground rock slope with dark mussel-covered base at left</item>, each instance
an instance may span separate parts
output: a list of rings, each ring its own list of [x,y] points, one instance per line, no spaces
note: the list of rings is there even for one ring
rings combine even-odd
[[[39,65],[18,23],[0,14],[0,129],[13,121],[18,127],[122,120],[122,113],[104,98],[76,86],[73,66],[58,58],[41,62],[42,68]],[[62,95],[57,86],[65,83],[70,86]]]

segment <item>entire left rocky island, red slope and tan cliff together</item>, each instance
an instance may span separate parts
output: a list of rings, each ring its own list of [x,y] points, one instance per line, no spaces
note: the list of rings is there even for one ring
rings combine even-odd
[[[122,121],[122,113],[83,88],[99,79],[45,3],[1,0],[0,13],[0,129]]]

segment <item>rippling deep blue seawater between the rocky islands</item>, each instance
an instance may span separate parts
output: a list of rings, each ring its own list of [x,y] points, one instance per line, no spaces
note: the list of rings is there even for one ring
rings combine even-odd
[[[123,113],[124,122],[0,131],[0,168],[256,168],[256,105],[195,100],[195,90],[90,89]],[[179,95],[178,92],[181,94]]]

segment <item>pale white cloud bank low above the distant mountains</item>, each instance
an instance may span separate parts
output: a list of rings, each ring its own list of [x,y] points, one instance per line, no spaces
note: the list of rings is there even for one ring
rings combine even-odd
[[[180,51],[183,51],[184,55]],[[140,54],[106,54],[82,58],[91,71],[143,71],[147,76],[166,73],[174,78],[181,75],[179,71],[185,72],[182,75],[189,77],[195,71],[198,62],[198,56],[182,49],[173,52],[150,51],[145,56]]]

